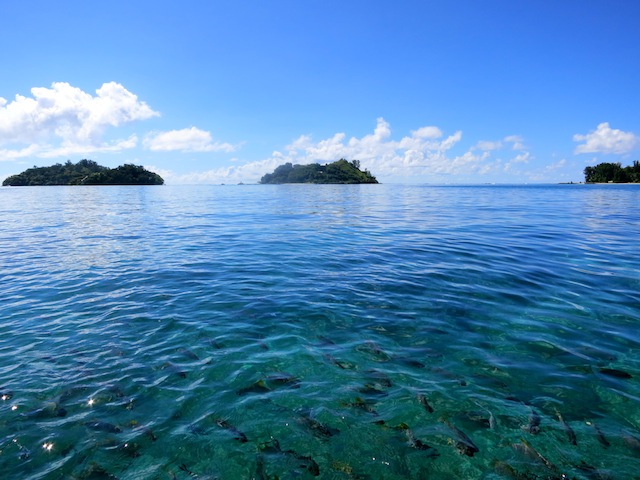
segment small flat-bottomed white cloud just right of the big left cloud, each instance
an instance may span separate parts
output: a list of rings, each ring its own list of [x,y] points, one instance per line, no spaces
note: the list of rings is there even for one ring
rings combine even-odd
[[[144,140],[146,148],[152,151],[183,152],[233,152],[236,147],[229,143],[214,142],[211,133],[196,127],[171,130],[148,135]]]

